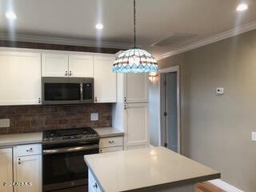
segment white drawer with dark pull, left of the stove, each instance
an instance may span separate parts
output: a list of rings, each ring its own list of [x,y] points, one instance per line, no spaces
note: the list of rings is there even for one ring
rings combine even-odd
[[[17,156],[27,156],[33,154],[42,154],[42,145],[41,144],[29,144],[16,146]]]

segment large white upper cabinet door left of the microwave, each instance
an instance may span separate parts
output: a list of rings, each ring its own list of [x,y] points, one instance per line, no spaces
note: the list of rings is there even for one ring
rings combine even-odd
[[[41,103],[41,54],[0,51],[0,105]]]

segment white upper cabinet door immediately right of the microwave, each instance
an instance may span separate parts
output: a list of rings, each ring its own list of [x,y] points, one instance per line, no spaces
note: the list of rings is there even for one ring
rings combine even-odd
[[[116,102],[117,77],[112,71],[114,55],[94,56],[94,102]]]

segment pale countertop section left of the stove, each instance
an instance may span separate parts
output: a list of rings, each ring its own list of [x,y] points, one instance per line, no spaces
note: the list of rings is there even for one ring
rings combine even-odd
[[[42,142],[42,132],[0,135],[0,147],[17,146],[37,142]]]

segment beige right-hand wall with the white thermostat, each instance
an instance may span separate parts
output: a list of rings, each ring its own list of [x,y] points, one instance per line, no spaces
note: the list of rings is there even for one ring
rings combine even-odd
[[[180,66],[182,154],[256,191],[256,30],[159,61]],[[215,89],[224,87],[217,96]]]

